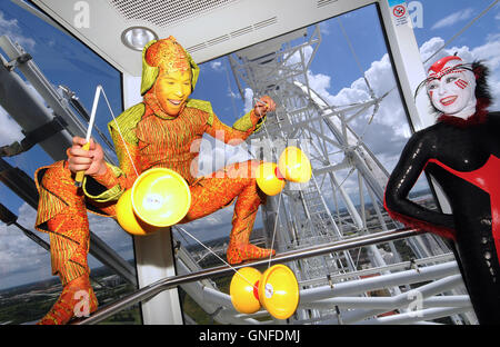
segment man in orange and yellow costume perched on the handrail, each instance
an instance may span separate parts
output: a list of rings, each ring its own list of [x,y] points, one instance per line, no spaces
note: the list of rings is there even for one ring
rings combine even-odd
[[[181,224],[208,216],[237,199],[227,250],[230,264],[269,257],[274,250],[249,244],[258,208],[264,202],[256,182],[258,160],[224,167],[208,177],[198,177],[198,150],[193,143],[204,132],[227,143],[242,141],[256,131],[273,100],[262,97],[256,107],[232,127],[223,125],[210,102],[189,99],[199,68],[173,37],[151,41],[142,51],[141,95],[143,101],[123,111],[109,123],[120,167],[103,160],[102,148],[91,140],[73,138],[68,160],[36,172],[40,201],[36,228],[49,232],[53,275],[63,290],[39,324],[66,324],[76,315],[79,299],[88,297],[90,313],[98,303],[89,281],[87,265],[89,222],[87,210],[116,216],[116,202],[132,187],[138,175],[153,167],[176,170],[191,190],[191,207]],[[194,148],[194,149],[193,149]],[[84,170],[82,188],[74,174]]]

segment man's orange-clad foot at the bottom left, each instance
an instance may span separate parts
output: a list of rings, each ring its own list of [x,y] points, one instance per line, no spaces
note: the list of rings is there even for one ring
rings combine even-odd
[[[89,277],[80,276],[62,289],[59,299],[37,325],[63,325],[73,317],[89,316],[98,308],[98,300]]]

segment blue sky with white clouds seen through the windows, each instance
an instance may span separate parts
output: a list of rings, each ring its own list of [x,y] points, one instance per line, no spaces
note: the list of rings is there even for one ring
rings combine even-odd
[[[408,1],[408,3],[414,1]],[[0,36],[8,33],[14,37],[33,56],[36,63],[54,86],[70,87],[90,110],[96,86],[102,85],[114,113],[118,115],[121,111],[121,83],[117,70],[79,41],[57,31],[11,1],[0,0]],[[422,13],[419,14],[422,26],[414,28],[414,34],[422,57],[428,57],[443,41],[451,38],[487,8],[491,0],[422,0],[418,3],[422,6]],[[370,79],[373,89],[378,95],[389,90],[393,80],[391,80],[391,76],[387,78],[386,73],[391,75],[392,72],[376,8],[369,6],[346,13],[340,17],[340,21],[357,52],[361,69]],[[346,38],[340,30],[339,20],[331,19],[321,23],[320,28],[322,43],[311,65],[311,85],[327,100],[336,105],[362,100],[367,96],[366,86],[360,80],[361,72],[349,51]],[[500,9],[497,4],[453,41],[449,49],[459,50],[468,58],[488,59],[493,68],[492,90],[500,92],[500,62],[496,58],[500,57],[499,47]],[[3,54],[3,52],[1,53]],[[230,95],[238,96],[238,89],[232,73],[230,73],[228,59],[221,57],[203,63],[192,98],[210,100],[218,117],[223,122],[231,125],[243,113],[244,100],[240,97],[231,98]],[[392,95],[387,103],[389,101],[400,102],[398,98],[397,95]],[[103,102],[100,105],[103,106]],[[376,119],[373,123],[373,129],[377,131],[367,133],[366,140],[371,146],[370,148],[389,168],[394,163],[408,136],[409,130],[404,119],[402,111],[393,112],[386,105],[384,108],[381,108],[380,118]],[[109,120],[110,116],[106,108],[100,108],[97,123],[104,132],[107,132],[106,123]],[[0,146],[21,138],[19,127],[16,128],[16,123],[2,110],[0,110],[0,122],[2,123]],[[389,138],[389,140],[381,142],[378,139],[380,136],[374,136],[380,133],[387,133],[388,137],[384,138]],[[51,162],[51,159],[38,147],[7,160],[30,176],[38,167]],[[0,184],[0,200],[20,216],[19,220],[24,227],[32,228],[34,211],[2,184]],[[197,236],[202,239],[203,237],[209,238],[210,235],[228,235],[231,215],[231,210],[226,209],[218,215],[207,217],[203,221],[192,222],[189,228],[198,232]],[[122,231],[117,231],[109,220],[101,221],[92,217],[91,226],[92,222],[99,226],[99,235],[104,240],[124,257],[131,256],[128,236]],[[223,225],[222,228],[221,225]],[[207,226],[209,227],[207,228]],[[201,235],[202,230],[206,235]],[[33,259],[36,259],[34,262]],[[14,227],[0,224],[0,278],[7,279],[0,280],[0,288],[50,276],[48,259],[48,254],[43,249],[28,240]],[[96,265],[97,261],[92,261],[92,264]]]

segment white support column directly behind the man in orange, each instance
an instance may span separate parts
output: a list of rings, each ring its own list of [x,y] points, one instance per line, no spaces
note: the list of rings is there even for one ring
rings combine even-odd
[[[123,75],[123,105],[142,100],[140,78]],[[139,288],[166,277],[176,276],[176,261],[170,228],[149,236],[134,236],[136,265]],[[164,290],[141,304],[144,325],[183,324],[177,288]]]

